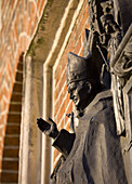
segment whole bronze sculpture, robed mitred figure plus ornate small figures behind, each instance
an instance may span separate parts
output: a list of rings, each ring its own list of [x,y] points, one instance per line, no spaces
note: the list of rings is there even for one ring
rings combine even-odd
[[[128,6],[129,5],[129,6]],[[89,0],[83,57],[68,55],[72,133],[38,119],[62,154],[57,184],[127,184],[132,175],[132,2]],[[129,19],[128,19],[129,18]]]

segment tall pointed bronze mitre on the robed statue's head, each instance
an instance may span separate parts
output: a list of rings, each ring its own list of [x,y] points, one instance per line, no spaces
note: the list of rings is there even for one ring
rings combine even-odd
[[[68,54],[67,64],[67,86],[77,81],[91,81],[100,80],[100,69],[97,68],[96,61],[92,58],[90,52],[87,57],[78,56],[71,52]]]

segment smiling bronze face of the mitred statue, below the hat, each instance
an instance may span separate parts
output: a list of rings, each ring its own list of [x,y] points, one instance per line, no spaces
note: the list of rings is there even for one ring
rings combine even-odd
[[[84,81],[71,82],[68,86],[69,98],[72,100],[76,108],[83,109],[88,104],[90,95],[88,83]]]

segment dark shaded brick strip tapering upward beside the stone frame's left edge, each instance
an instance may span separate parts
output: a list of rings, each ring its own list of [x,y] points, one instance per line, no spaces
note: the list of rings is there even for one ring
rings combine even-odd
[[[18,154],[23,92],[23,54],[19,56],[9,105],[2,153],[1,183],[18,183]]]

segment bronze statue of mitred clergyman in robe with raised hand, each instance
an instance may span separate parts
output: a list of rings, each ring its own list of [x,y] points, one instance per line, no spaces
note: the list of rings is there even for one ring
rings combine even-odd
[[[42,119],[37,121],[66,158],[56,173],[58,184],[127,183],[111,92],[101,83],[92,60],[91,54],[87,58],[72,53],[68,56],[67,89],[79,119],[75,133],[58,132],[52,119],[51,126]]]

